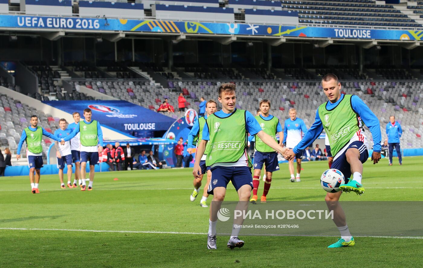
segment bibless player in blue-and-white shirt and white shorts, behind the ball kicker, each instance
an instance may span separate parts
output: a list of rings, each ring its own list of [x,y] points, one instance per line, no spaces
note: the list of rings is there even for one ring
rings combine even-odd
[[[287,148],[292,149],[305,133],[307,133],[307,127],[301,118],[297,118],[297,110],[295,108],[289,109],[289,118],[285,120],[285,126],[283,127],[283,144]],[[291,182],[300,182],[302,150],[295,155],[295,158],[297,159],[297,175],[294,177],[294,159],[291,159],[288,162],[289,172],[291,173],[289,180]]]

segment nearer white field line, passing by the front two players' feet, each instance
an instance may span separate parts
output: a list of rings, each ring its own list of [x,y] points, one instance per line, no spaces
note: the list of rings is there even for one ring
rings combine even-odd
[[[56,229],[56,228],[3,228],[0,230],[17,230],[17,231],[64,231],[64,232],[118,232],[118,233],[144,233],[144,234],[172,234],[172,235],[206,235],[205,232],[160,232],[160,231],[119,231],[119,230],[78,230],[78,229]],[[229,235],[222,234],[222,235]],[[255,236],[306,236],[306,237],[338,237],[335,235],[283,235],[283,234],[250,234]],[[372,238],[398,238],[398,239],[423,239],[423,236],[356,236],[356,237],[372,237]]]

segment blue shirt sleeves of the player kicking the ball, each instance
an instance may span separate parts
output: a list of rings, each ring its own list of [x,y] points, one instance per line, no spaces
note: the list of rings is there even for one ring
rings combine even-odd
[[[327,101],[326,108],[330,110],[338,105],[342,101],[343,95],[344,94],[341,94],[341,98],[339,98],[339,100],[335,103]],[[373,136],[373,150],[377,153],[380,153],[382,148],[380,144],[382,141],[382,134],[380,132],[379,119],[377,119],[376,115],[359,96],[353,95],[351,97],[351,104],[354,112],[360,116],[360,118],[363,120],[363,123],[370,129],[370,133]],[[299,153],[300,151],[310,146],[319,137],[321,131],[323,131],[323,124],[320,120],[319,109],[317,109],[316,118],[314,119],[313,125],[310,127],[298,145],[294,147],[293,152]]]

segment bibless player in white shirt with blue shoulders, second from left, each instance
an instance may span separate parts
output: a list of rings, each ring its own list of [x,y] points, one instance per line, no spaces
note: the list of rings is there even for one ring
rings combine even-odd
[[[65,138],[71,134],[71,129],[66,129],[66,119],[62,118],[59,120],[59,127],[60,129],[57,129],[54,131],[54,135],[58,138]],[[65,183],[63,183],[63,169],[65,168],[65,164],[68,167],[68,183],[67,186],[69,188],[74,188],[71,184],[71,178],[72,178],[72,153],[71,153],[71,142],[67,141],[65,142],[65,145],[58,144],[58,142],[55,142],[56,147],[56,156],[57,156],[57,167],[59,169],[59,179],[60,179],[60,188],[65,189]],[[78,187],[75,185],[75,187]]]

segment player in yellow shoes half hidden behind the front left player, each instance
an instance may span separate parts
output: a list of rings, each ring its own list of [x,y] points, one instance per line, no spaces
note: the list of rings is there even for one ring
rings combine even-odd
[[[192,126],[192,129],[190,133],[188,134],[188,148],[187,152],[191,154],[192,149],[195,148],[194,145],[192,145],[192,142],[197,141],[200,142],[201,138],[203,137],[203,127],[206,123],[206,119],[209,115],[216,112],[217,103],[216,101],[210,100],[206,103],[206,115],[203,117],[198,118],[197,121],[194,122],[194,126]],[[201,167],[201,175],[200,178],[194,178],[194,191],[192,191],[192,194],[190,196],[191,202],[195,201],[195,198],[197,198],[198,193],[200,192],[200,186],[201,186],[201,180],[203,180],[203,175],[207,172],[207,182],[204,186],[203,190],[203,197],[200,201],[200,206],[203,208],[207,208],[207,197],[209,197],[209,194],[207,194],[207,189],[209,188],[210,178],[211,178],[211,171],[210,168],[206,168],[206,156],[207,153],[209,153],[209,146],[207,146],[206,151],[204,152],[203,157],[201,158],[200,167]]]

